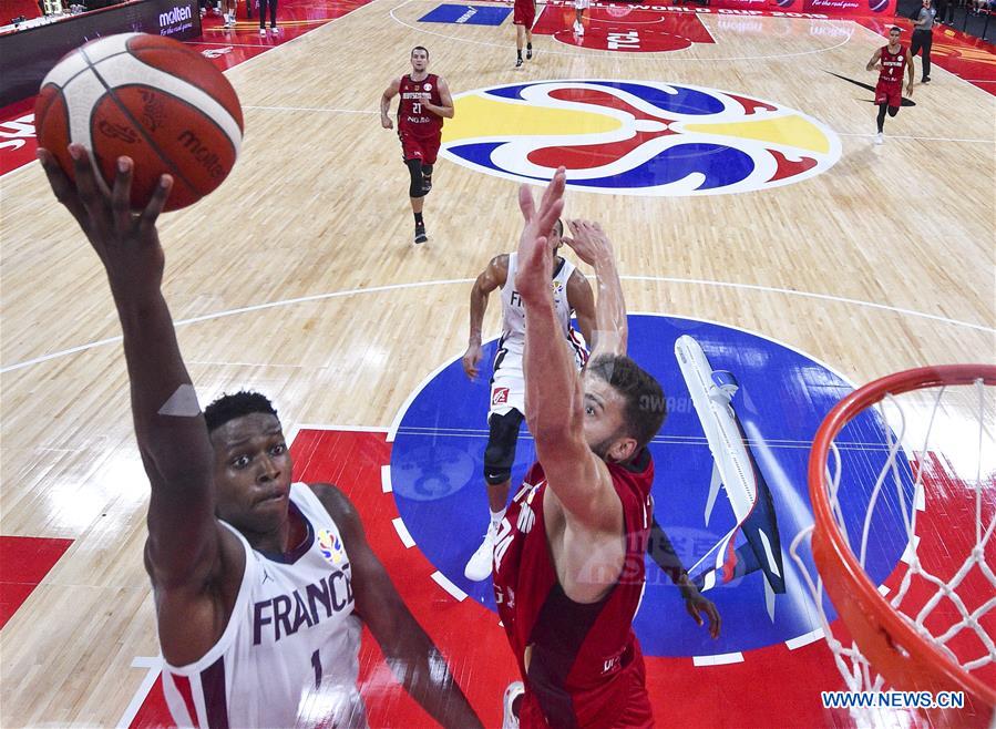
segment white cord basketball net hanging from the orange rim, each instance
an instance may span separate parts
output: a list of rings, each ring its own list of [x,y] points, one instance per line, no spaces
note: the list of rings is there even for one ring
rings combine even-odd
[[[987,686],[996,686],[994,391],[978,380],[886,396],[838,433],[824,481],[836,526],[866,574],[883,572],[876,562],[890,545],[882,520],[899,526],[905,540],[900,563],[880,584],[872,578],[873,584],[925,641]],[[860,473],[842,478],[850,471]],[[849,489],[863,491],[859,515]],[[812,527],[800,532],[790,552],[818,606],[846,689],[892,688],[846,627],[828,619],[823,582],[803,558],[811,533]],[[861,726],[906,723],[895,711],[852,715]]]

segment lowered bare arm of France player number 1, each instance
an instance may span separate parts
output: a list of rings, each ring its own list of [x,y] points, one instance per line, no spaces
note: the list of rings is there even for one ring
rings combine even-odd
[[[356,612],[377,639],[394,678],[443,727],[481,727],[446,660],[409,612],[367,542],[353,505],[335,486],[312,486],[342,533]]]

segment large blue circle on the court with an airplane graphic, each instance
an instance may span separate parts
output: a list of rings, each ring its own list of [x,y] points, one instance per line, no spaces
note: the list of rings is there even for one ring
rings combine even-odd
[[[650,444],[655,516],[689,574],[712,583],[705,595],[722,616],[722,634],[712,640],[695,625],[678,589],[648,556],[646,591],[634,620],[644,653],[745,651],[820,628],[819,613],[789,546],[813,521],[807,483],[813,435],[852,386],[804,353],[757,333],[677,317],[628,319],[629,356],[658,379],[668,400],[667,420]],[[748,514],[738,515],[722,487],[706,518],[713,459],[676,359],[675,342],[681,336],[694,338],[711,369],[731,373],[739,384],[730,404],[759,483],[759,496]],[[456,358],[413,397],[394,437],[391,483],[398,511],[427,558],[471,598],[494,610],[491,581],[472,583],[463,576],[487,526],[483,452],[495,342],[484,349],[476,382],[466,379]],[[729,376],[718,377],[725,381]],[[885,441],[883,422],[871,411],[838,439],[844,464],[841,512],[851,535],[862,533],[872,487],[889,455]],[[908,462],[900,455],[896,469],[908,505],[913,480]],[[523,425],[512,470],[513,494],[534,459],[535,448]],[[906,548],[901,509],[894,489],[875,504],[866,558],[875,584],[892,573]],[[802,553],[814,574],[808,542]],[[824,605],[832,620],[832,607]]]

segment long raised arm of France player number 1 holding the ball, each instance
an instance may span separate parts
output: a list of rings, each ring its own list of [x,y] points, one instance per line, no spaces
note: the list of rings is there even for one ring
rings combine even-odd
[[[80,145],[69,151],[75,185],[50,152],[39,150],[38,156],[107,274],[124,333],[135,434],[152,485],[145,563],[156,588],[160,637],[171,661],[196,659],[225,624],[219,602],[207,591],[222,567],[220,527],[214,515],[214,452],[160,289],[164,256],[155,224],[173,181],[164,175],[145,209],[134,214],[130,158],[119,158],[107,194],[86,151]]]

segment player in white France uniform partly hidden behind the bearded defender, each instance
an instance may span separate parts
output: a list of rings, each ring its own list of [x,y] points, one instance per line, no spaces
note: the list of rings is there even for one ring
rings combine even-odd
[[[574,264],[557,255],[557,249],[564,243],[571,244],[569,239],[562,237],[563,233],[564,224],[557,220],[547,237],[550,255],[554,257],[551,287],[565,346],[581,369],[587,360],[584,342],[591,342],[592,328],[595,324],[595,297],[584,275]],[[468,561],[463,573],[468,579],[475,582],[491,575],[494,536],[497,533],[497,525],[505,515],[512,464],[515,461],[515,444],[518,440],[520,425],[525,418],[525,379],[522,373],[525,309],[514,287],[516,266],[517,254],[495,256],[487,264],[487,268],[478,276],[471,289],[471,332],[463,356],[463,370],[471,380],[478,377],[478,368],[484,356],[481,349],[481,327],[484,322],[484,311],[487,309],[487,297],[493,290],[501,288],[502,298],[502,337],[494,358],[491,404],[487,412],[487,446],[484,449],[484,481],[487,484],[491,525],[481,546]],[[584,341],[571,327],[571,316],[575,312]]]

